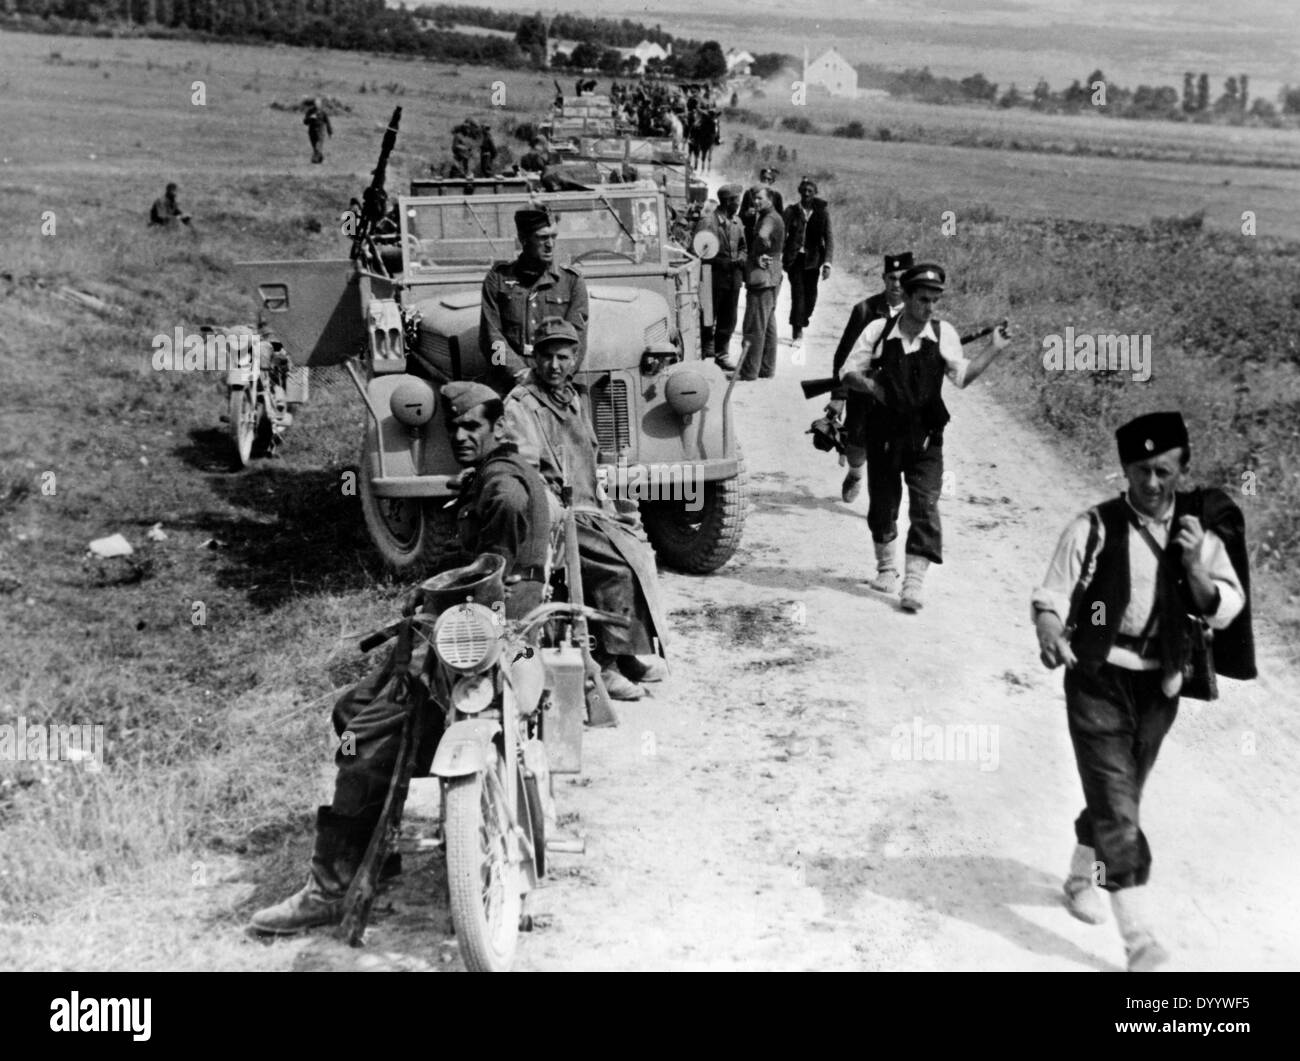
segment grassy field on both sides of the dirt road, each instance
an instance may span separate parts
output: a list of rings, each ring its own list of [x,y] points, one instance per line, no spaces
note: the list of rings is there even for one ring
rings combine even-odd
[[[113,889],[139,900],[170,888],[203,904],[204,867],[230,856],[259,883],[254,905],[300,876],[312,807],[328,792],[332,697],[363,667],[346,635],[389,616],[402,586],[339,489],[361,426],[346,385],[316,389],[282,459],[237,475],[220,377],[147,371],[151,339],[248,319],[237,260],[344,255],[333,226],[393,105],[406,108],[390,170],[399,187],[443,156],[455,121],[491,116],[498,77],[291,48],[22,35],[0,35],[0,212],[10,218],[0,722],[103,724],[109,763],[98,775],[0,763],[0,922],[39,924],[55,902],[107,910],[98,897]],[[499,79],[500,121],[549,103],[547,78]],[[350,108],[318,166],[299,116],[272,107],[306,95]],[[1223,186],[1212,166],[1080,157],[1062,172],[1054,156],[786,142],[801,159],[790,173],[820,174],[835,203],[841,268],[870,277],[881,251],[911,246],[949,265],[953,320],[1015,317],[1023,339],[988,382],[1044,445],[1109,463],[1121,417],[1180,406],[1202,481],[1240,484],[1253,471],[1264,611],[1291,636],[1300,629],[1288,598],[1300,551],[1294,173],[1227,168]],[[741,177],[758,159],[724,161]],[[144,225],[168,179],[192,231]],[[1152,224],[1201,208],[1205,229]],[[1256,238],[1231,221],[1247,208],[1258,211]],[[949,209],[958,228],[945,237]],[[53,234],[42,234],[47,212]],[[109,308],[70,303],[62,287]],[[1044,373],[1040,339],[1066,325],[1152,334],[1152,381]],[[164,542],[146,538],[156,523]],[[136,547],[134,567],[83,559],[88,541],[113,532]],[[34,947],[39,934],[23,939]],[[5,943],[0,962],[62,960]]]

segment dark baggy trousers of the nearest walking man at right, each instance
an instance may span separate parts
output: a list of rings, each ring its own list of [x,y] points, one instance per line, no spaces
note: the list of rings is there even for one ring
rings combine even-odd
[[[1075,839],[1097,853],[1108,891],[1147,883],[1150,848],[1139,826],[1143,787],[1165,733],[1178,715],[1178,697],[1160,690],[1160,671],[1128,671],[1079,661],[1065,674],[1066,718],[1087,806]]]

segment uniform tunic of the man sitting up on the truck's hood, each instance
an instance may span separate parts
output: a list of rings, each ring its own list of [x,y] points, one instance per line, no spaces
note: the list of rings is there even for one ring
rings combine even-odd
[[[549,265],[529,269],[521,260],[498,261],[484,277],[478,348],[488,360],[485,382],[506,395],[515,376],[528,368],[524,345],[546,317],[563,317],[580,337],[577,364],[586,355],[586,283],[577,269]],[[503,346],[495,347],[500,342]],[[494,348],[500,356],[494,358]],[[495,364],[494,360],[499,360]]]

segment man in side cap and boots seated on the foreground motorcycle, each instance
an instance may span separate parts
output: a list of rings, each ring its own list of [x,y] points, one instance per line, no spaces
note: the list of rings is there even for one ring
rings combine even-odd
[[[458,381],[442,387],[447,432],[462,473],[458,527],[465,553],[497,553],[506,559],[506,618],[517,619],[541,603],[550,547],[550,501],[537,469],[503,441],[500,397],[484,384]],[[334,801],[316,811],[316,846],[307,884],[289,898],[252,915],[250,931],[292,935],[337,924],[343,898],[380,819],[396,767],[407,705],[394,653],[334,705],[338,774]],[[420,748],[417,772],[428,770],[442,735],[434,710]]]

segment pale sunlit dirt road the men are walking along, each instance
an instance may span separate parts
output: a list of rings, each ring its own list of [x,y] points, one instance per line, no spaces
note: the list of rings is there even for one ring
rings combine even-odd
[[[711,577],[664,575],[673,676],[558,783],[586,853],[530,897],[520,969],[1122,969],[1114,926],[1058,900],[1082,796],[1027,605],[1066,519],[1114,484],[1002,412],[994,368],[948,398],[924,610],[868,589],[866,497],[840,502],[797,387],[829,371],[857,296],[832,278],[806,364],[783,346],[775,380],[737,385],[744,545]],[[1148,787],[1178,969],[1300,967],[1296,698],[1270,655],[1264,680],[1184,701]],[[294,963],[459,967],[437,872],[407,874],[365,952],[316,939]]]

